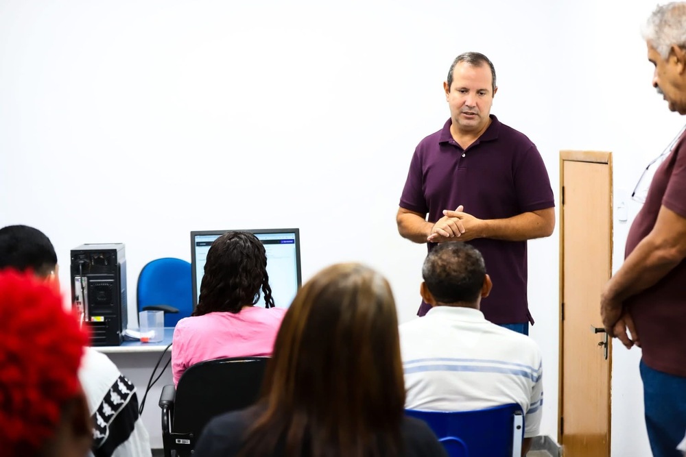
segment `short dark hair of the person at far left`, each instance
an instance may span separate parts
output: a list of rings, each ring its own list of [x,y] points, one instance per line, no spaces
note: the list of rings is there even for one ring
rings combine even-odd
[[[0,229],[0,270],[31,270],[47,276],[57,265],[57,254],[43,232],[27,225],[8,225]]]

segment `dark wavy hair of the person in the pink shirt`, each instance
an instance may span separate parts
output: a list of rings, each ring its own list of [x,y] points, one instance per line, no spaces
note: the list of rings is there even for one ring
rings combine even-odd
[[[226,232],[210,246],[200,282],[200,298],[193,316],[209,312],[240,312],[259,301],[274,306],[267,274],[267,254],[250,232]]]

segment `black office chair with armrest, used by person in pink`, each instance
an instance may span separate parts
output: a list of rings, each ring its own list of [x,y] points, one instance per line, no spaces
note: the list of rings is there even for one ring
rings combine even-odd
[[[258,397],[268,357],[220,358],[191,365],[160,395],[165,457],[186,457],[210,419]],[[174,454],[173,454],[174,452]]]

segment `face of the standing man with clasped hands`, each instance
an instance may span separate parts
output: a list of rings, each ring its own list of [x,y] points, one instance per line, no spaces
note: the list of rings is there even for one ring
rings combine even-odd
[[[453,67],[453,82],[443,83],[453,126],[461,133],[480,132],[488,124],[493,105],[493,75],[488,64],[471,66],[459,62]],[[495,88],[497,91],[497,88]]]

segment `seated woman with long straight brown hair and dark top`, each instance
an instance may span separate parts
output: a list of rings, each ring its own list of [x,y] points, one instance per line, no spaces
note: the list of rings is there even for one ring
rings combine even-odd
[[[320,271],[276,336],[263,396],[213,419],[197,457],[445,456],[428,426],[404,415],[395,302],[360,264]]]

